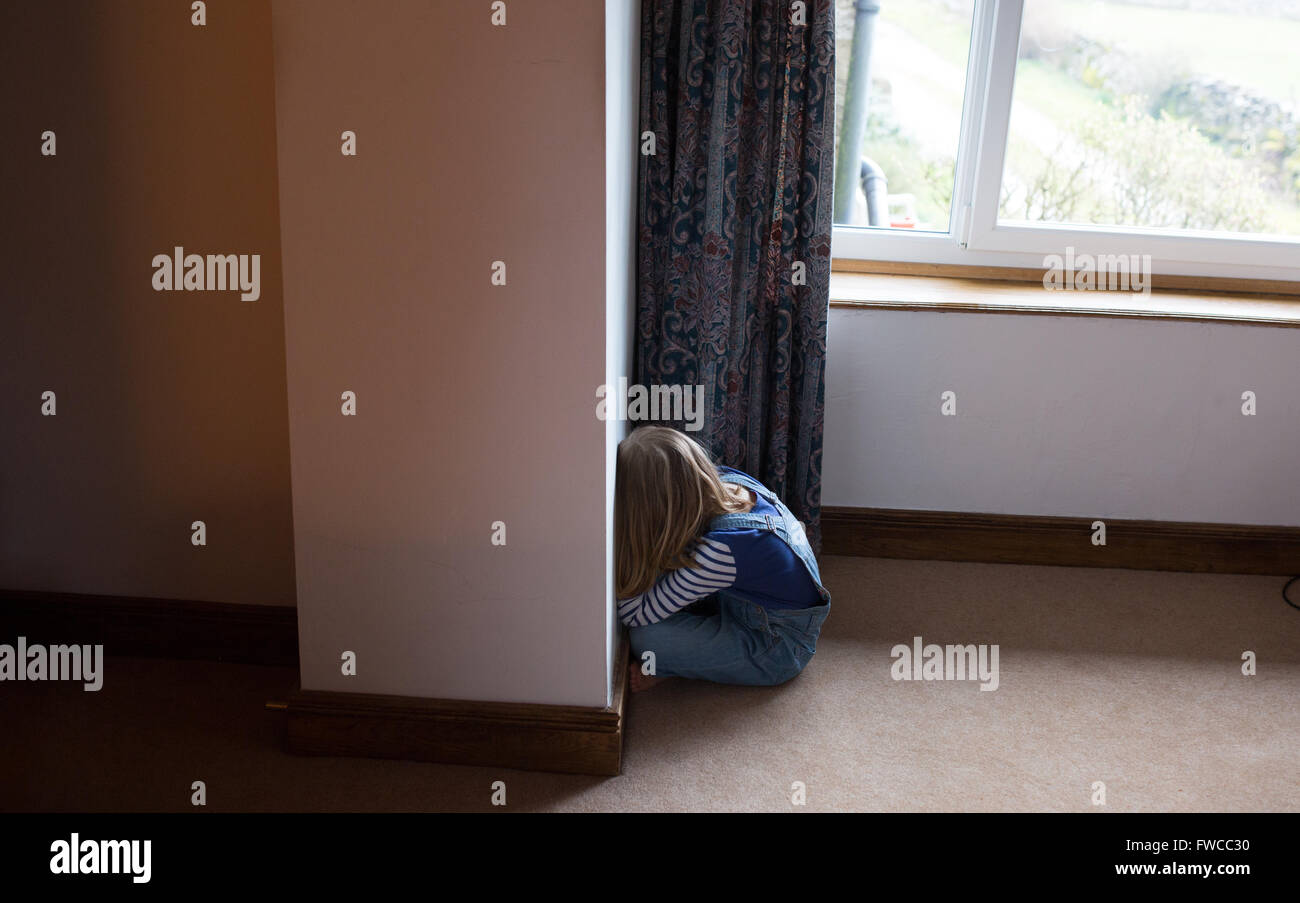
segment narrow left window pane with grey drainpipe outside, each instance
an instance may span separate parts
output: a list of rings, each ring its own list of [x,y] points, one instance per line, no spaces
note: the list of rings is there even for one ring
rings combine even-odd
[[[948,231],[974,5],[836,0],[836,223]]]

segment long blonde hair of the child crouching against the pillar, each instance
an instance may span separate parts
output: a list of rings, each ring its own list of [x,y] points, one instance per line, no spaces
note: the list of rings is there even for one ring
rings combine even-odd
[[[718,515],[749,511],[699,443],[642,426],[619,443],[614,490],[615,595],[629,599],[659,574],[694,565],[694,543]]]

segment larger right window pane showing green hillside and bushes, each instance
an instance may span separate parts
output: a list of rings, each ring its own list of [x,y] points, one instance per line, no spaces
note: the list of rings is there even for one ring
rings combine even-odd
[[[1026,0],[1002,222],[1300,235],[1297,0]]]

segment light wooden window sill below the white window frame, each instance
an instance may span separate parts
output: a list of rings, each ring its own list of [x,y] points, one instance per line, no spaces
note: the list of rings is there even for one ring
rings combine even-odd
[[[1049,291],[1013,282],[893,273],[831,273],[831,307],[1054,317],[1126,317],[1300,327],[1300,298],[1153,290]]]

